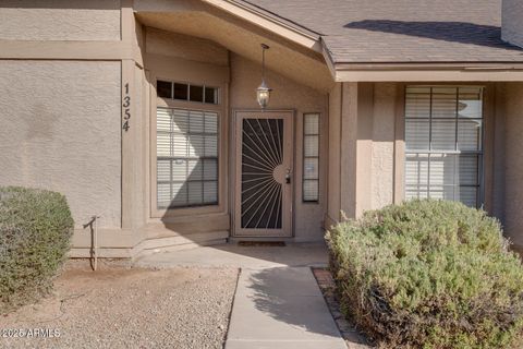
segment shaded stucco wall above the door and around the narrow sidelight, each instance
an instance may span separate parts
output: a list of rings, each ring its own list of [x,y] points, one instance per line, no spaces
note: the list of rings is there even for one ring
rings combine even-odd
[[[238,55],[231,55],[231,109],[259,109],[256,103],[255,91],[260,83],[260,67]],[[297,240],[323,239],[323,221],[326,208],[325,177],[327,165],[327,95],[307,86],[295,83],[287,77],[269,71],[267,83],[273,89],[270,109],[293,109],[294,119],[294,232]],[[320,203],[302,203],[302,144],[303,144],[303,113],[320,112],[323,118],[321,155],[320,155]]]

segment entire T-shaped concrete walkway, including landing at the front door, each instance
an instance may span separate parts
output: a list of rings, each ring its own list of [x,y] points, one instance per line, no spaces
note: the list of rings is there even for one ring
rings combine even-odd
[[[346,349],[311,266],[327,266],[324,243],[224,244],[157,253],[136,266],[241,268],[226,349]]]

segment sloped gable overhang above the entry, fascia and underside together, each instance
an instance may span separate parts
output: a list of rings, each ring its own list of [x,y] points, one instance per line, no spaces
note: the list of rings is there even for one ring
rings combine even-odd
[[[134,14],[145,27],[206,39],[259,64],[260,44],[266,44],[270,46],[267,69],[314,89],[330,91],[335,81],[318,34],[236,2],[135,0]]]

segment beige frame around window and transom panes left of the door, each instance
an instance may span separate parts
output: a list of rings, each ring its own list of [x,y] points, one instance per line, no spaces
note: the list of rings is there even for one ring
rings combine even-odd
[[[227,149],[224,148],[227,134],[227,109],[226,104],[222,100],[227,98],[223,94],[226,92],[226,84],[211,81],[210,83],[204,83],[194,81],[194,85],[214,86],[218,88],[218,98],[220,104],[205,104],[199,101],[178,100],[170,98],[162,98],[157,95],[156,86],[157,81],[171,81],[182,82],[177,79],[169,79],[166,76],[151,76],[154,84],[150,84],[150,98],[151,104],[149,106],[150,119],[149,119],[149,213],[150,218],[168,218],[168,217],[184,217],[195,215],[208,215],[208,214],[222,214],[226,213],[227,206],[227,179],[226,179],[226,158]],[[187,83],[188,84],[188,83]],[[193,205],[171,208],[158,208],[158,192],[157,192],[157,109],[158,108],[173,108],[203,112],[216,112],[218,115],[218,203],[212,205]]]

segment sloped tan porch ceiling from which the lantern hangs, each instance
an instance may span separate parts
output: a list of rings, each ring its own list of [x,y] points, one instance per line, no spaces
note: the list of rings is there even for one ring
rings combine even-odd
[[[183,7],[158,4],[135,8],[137,20],[146,26],[212,40],[230,51],[262,63],[260,44],[270,46],[268,69],[312,88],[328,92],[333,79],[320,52],[307,49],[265,31],[255,24],[203,3]]]

